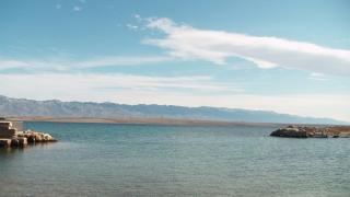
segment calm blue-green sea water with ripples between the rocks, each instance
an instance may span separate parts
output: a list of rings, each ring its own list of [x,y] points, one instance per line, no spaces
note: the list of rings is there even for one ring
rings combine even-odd
[[[273,127],[27,123],[57,143],[0,150],[0,196],[350,196],[350,139]]]

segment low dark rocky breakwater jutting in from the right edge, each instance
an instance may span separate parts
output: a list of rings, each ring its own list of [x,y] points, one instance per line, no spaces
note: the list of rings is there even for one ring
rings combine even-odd
[[[350,126],[295,126],[279,128],[270,134],[285,138],[350,138]]]

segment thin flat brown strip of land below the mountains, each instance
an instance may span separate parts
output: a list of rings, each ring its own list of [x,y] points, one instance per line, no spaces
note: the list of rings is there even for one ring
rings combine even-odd
[[[177,119],[177,118],[93,118],[93,117],[49,117],[49,116],[20,116],[8,117],[9,120],[20,121],[50,121],[50,123],[96,123],[96,124],[139,124],[139,125],[178,125],[178,126],[260,126],[260,127],[282,127],[295,124],[281,123],[246,123],[207,119]],[[312,125],[312,124],[296,124]],[[315,125],[316,126],[316,125]]]

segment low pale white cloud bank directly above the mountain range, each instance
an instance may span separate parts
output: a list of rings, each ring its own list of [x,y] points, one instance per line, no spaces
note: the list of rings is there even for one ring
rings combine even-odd
[[[35,100],[168,104],[276,111],[350,120],[350,94],[257,95],[206,76],[0,74],[0,94]],[[188,91],[184,91],[188,90]],[[211,94],[201,93],[209,91]],[[220,92],[225,92],[221,94]],[[331,101],[331,102],[329,102]]]

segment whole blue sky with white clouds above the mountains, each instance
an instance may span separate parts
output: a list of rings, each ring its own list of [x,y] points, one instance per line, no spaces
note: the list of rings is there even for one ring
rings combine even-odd
[[[0,95],[350,121],[350,1],[2,0]]]

